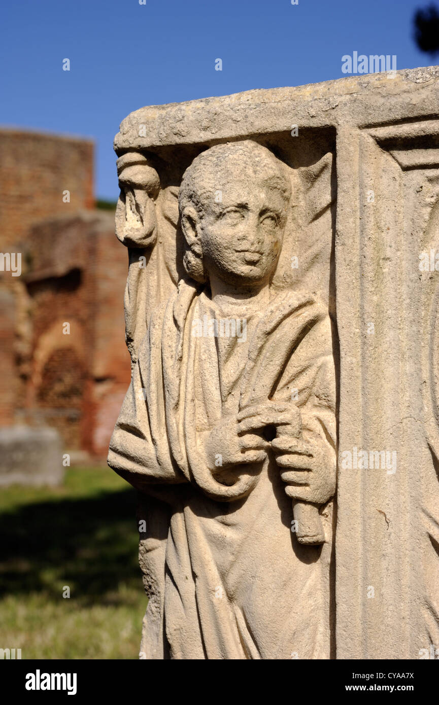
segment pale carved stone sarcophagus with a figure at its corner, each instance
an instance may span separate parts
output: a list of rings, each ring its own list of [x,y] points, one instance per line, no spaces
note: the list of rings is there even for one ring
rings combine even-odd
[[[439,68],[146,107],[114,146],[143,657],[429,658]]]

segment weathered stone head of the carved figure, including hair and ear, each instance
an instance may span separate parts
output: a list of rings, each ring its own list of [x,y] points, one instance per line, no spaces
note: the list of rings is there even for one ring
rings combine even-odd
[[[269,281],[290,197],[287,168],[257,142],[228,142],[198,154],[179,192],[188,274],[196,281],[215,274],[236,287]]]

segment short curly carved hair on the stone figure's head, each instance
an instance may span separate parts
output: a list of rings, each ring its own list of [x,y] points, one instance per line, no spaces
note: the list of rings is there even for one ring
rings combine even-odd
[[[252,140],[227,142],[215,145],[198,154],[188,166],[181,180],[179,191],[180,214],[188,206],[193,207],[200,219],[212,209],[215,195],[222,184],[230,179],[230,173],[242,175],[251,183],[262,182],[267,187],[279,190],[285,204],[291,197],[291,181],[285,164],[277,159],[270,149]],[[184,231],[184,226],[183,226]],[[204,282],[207,279],[203,266],[201,244],[188,244],[185,235],[184,268],[191,278]]]

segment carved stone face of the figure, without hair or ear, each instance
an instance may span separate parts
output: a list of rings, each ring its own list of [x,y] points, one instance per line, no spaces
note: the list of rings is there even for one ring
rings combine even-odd
[[[229,181],[222,202],[198,224],[205,271],[235,286],[265,283],[277,265],[285,221],[284,197],[270,183]]]

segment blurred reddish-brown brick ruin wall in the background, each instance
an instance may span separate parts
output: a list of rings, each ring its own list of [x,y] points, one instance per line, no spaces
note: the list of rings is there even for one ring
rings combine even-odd
[[[93,209],[92,142],[0,130],[0,150],[0,250],[23,269],[0,271],[0,426],[50,425],[104,457],[130,376],[127,264]]]

